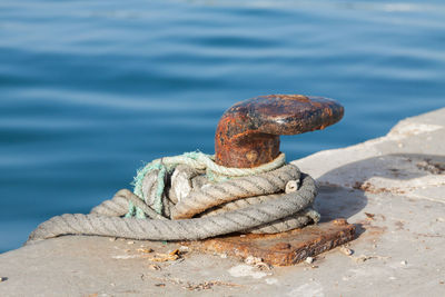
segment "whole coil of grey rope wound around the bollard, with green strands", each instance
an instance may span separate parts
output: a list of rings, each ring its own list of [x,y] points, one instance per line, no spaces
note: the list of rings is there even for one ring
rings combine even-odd
[[[226,168],[187,152],[155,160],[90,215],[66,214],[38,226],[28,241],[61,235],[194,240],[230,232],[275,234],[317,222],[314,179],[281,154],[256,168]],[[123,216],[123,217],[122,217]]]

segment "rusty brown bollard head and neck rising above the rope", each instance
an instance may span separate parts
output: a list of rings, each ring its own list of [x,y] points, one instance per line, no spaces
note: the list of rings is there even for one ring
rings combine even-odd
[[[224,112],[215,135],[216,162],[251,168],[279,155],[279,136],[324,129],[343,117],[337,101],[303,95],[247,99]]]

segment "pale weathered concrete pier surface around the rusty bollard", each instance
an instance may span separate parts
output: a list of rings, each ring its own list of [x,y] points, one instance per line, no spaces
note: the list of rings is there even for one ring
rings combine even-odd
[[[268,268],[180,244],[65,236],[0,255],[0,296],[445,296],[445,108],[295,164],[320,185],[323,220],[356,225],[347,247]]]

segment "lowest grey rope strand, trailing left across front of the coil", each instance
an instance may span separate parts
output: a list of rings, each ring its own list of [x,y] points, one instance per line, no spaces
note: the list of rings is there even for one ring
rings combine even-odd
[[[294,166],[291,166],[294,167]],[[298,171],[294,167],[295,171]],[[274,171],[263,174],[267,181],[273,180]],[[62,215],[42,222],[29,240],[46,239],[61,235],[100,235],[132,239],[192,240],[224,234],[246,231],[251,228],[267,228],[267,224],[285,224],[284,219],[296,216],[298,224],[307,224],[299,211],[308,209],[317,194],[313,178],[301,175],[300,188],[284,194],[278,199],[230,210],[202,218],[182,220],[118,218],[101,215]],[[303,212],[301,212],[303,214]],[[305,216],[305,214],[303,214]],[[303,217],[304,217],[303,216]]]

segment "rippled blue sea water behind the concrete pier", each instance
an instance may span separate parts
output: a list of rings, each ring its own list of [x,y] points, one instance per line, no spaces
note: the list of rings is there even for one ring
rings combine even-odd
[[[0,253],[88,212],[142,161],[214,151],[221,113],[269,93],[339,100],[289,160],[445,106],[445,3],[0,1]]]

